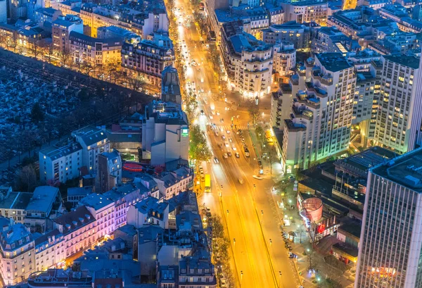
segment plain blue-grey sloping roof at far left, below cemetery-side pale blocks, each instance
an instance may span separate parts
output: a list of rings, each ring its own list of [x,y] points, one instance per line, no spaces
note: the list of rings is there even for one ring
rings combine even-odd
[[[51,211],[54,200],[60,192],[57,187],[39,186],[35,188],[34,195],[28,204],[27,211],[40,211],[48,214]],[[46,215],[48,216],[48,215]]]

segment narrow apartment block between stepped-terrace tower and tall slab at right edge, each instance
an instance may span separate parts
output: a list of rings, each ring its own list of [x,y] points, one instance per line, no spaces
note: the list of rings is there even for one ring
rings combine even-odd
[[[352,125],[359,125],[361,143],[366,147],[375,133],[383,63],[381,55],[371,49],[351,54],[348,61],[354,66],[354,73],[357,75]]]

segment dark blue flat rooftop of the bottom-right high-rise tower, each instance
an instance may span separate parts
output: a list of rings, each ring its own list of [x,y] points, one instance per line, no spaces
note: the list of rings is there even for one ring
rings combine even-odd
[[[422,193],[422,148],[377,165],[371,171],[373,174]]]

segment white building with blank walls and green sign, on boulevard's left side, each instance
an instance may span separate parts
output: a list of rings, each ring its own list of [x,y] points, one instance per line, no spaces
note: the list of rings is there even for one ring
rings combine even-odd
[[[151,165],[188,159],[189,127],[178,104],[153,101],[145,108],[142,123],[142,158]]]

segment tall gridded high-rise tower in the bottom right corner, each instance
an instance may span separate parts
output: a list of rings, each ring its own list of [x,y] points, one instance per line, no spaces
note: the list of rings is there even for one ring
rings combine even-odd
[[[422,149],[369,170],[354,288],[422,287]]]

